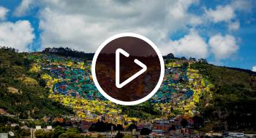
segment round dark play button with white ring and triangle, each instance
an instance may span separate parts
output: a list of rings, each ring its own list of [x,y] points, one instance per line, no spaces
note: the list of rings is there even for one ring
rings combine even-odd
[[[136,33],[120,33],[104,41],[94,54],[91,73],[99,92],[120,105],[137,105],[152,97],[164,77],[157,46]]]

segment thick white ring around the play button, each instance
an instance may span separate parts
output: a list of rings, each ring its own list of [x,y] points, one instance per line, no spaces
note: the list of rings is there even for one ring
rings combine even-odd
[[[95,73],[95,67],[96,67],[96,61],[97,58],[99,56],[99,52],[102,51],[102,49],[104,48],[105,45],[107,45],[110,41],[115,40],[116,38],[121,38],[121,37],[126,37],[126,36],[130,36],[130,37],[135,37],[135,38],[140,38],[143,41],[146,41],[154,50],[155,52],[157,52],[157,56],[159,57],[159,62],[160,62],[160,68],[161,68],[161,73],[160,73],[160,77],[159,77],[159,81],[157,82],[157,85],[154,87],[153,91],[151,91],[146,97],[141,98],[140,100],[135,100],[132,102],[125,102],[125,101],[121,101],[121,100],[116,100],[113,97],[110,97],[107,93],[104,92],[104,90],[102,89],[101,86],[99,86],[99,82],[97,80],[96,77],[96,73]],[[145,102],[146,100],[148,100],[149,98],[151,98],[155,93],[157,93],[157,90],[159,89],[159,87],[162,84],[162,81],[164,79],[164,73],[165,73],[165,64],[164,64],[164,60],[162,58],[162,54],[159,51],[159,49],[157,48],[157,46],[148,38],[146,38],[145,36],[142,36],[140,34],[137,33],[118,33],[114,36],[111,36],[110,38],[108,38],[107,40],[105,40],[97,49],[97,51],[94,54],[94,58],[92,60],[91,63],[91,75],[92,78],[94,80],[94,84],[96,85],[97,89],[99,90],[99,92],[108,100],[110,100],[111,102],[115,102],[116,104],[119,105],[138,105],[142,102]]]

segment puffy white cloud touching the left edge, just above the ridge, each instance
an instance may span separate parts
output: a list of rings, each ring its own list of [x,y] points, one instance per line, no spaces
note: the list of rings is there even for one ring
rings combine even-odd
[[[0,46],[8,46],[18,49],[20,52],[28,52],[28,46],[34,39],[34,29],[27,20],[16,23],[0,23]]]

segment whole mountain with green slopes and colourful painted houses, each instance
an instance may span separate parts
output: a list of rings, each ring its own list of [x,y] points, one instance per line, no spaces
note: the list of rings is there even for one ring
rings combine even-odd
[[[75,113],[85,121],[122,125],[175,119],[200,131],[256,130],[255,72],[168,54],[157,94],[140,105],[121,106],[94,86],[93,55],[69,48],[34,53],[1,48],[0,109],[19,118]]]

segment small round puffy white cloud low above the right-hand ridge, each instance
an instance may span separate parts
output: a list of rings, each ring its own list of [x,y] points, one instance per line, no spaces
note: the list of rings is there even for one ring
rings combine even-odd
[[[217,60],[231,57],[238,51],[236,38],[230,35],[222,36],[217,34],[215,36],[211,36],[209,39],[209,46],[211,46],[211,52],[213,52],[214,57]]]

